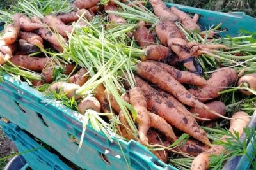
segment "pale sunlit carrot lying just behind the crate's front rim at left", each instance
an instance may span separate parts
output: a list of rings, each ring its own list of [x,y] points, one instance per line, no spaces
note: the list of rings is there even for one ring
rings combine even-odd
[[[74,97],[75,100],[78,100],[82,97],[76,94],[76,90],[79,88],[80,88],[79,85],[59,81],[59,82],[53,83],[47,89],[47,92],[55,91],[60,94],[65,94],[68,98]]]

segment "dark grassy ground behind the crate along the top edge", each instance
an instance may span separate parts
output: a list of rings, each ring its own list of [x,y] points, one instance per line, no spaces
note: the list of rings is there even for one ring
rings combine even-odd
[[[12,3],[18,0],[1,0],[0,9],[8,8]],[[36,1],[36,0],[35,0]],[[256,1],[255,0],[166,0],[170,3],[184,4],[186,6],[195,6],[214,11],[243,11],[248,15],[256,17]]]

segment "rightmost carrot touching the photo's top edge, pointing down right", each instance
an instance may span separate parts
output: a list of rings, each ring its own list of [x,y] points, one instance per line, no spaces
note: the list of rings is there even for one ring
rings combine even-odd
[[[179,20],[179,18],[172,13],[170,9],[166,7],[166,4],[163,3],[161,0],[150,0],[150,4],[153,7],[154,14],[163,19],[163,20],[170,20],[172,22]]]

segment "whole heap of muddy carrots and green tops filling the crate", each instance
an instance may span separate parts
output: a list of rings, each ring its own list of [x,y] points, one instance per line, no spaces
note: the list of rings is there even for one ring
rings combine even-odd
[[[0,13],[1,73],[84,115],[81,141],[90,122],[180,169],[234,156],[256,108],[248,32],[220,38],[221,24],[202,31],[161,0],[24,0]]]

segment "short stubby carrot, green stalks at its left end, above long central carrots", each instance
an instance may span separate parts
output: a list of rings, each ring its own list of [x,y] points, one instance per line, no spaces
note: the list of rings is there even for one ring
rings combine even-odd
[[[172,55],[169,48],[163,45],[149,45],[144,50],[148,60],[164,60]]]

